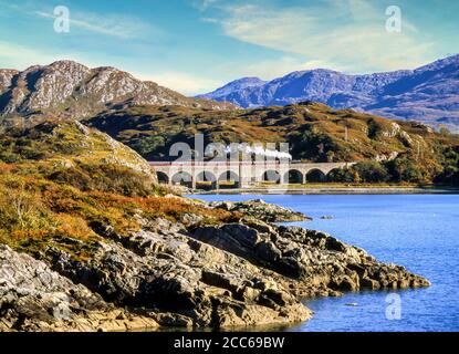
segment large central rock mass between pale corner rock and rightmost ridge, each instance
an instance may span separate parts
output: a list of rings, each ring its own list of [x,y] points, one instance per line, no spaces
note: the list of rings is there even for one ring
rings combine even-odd
[[[46,259],[107,301],[149,309],[161,325],[286,324],[311,316],[283,277],[197,241],[177,223],[159,219],[129,238],[106,237],[118,242],[100,243],[88,261],[74,261],[53,248]]]

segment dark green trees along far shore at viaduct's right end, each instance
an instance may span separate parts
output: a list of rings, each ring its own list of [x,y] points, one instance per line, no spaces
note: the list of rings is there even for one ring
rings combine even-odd
[[[328,181],[336,183],[410,183],[410,184],[449,184],[459,185],[459,147],[448,148],[444,159],[438,162],[437,173],[428,170],[425,164],[407,156],[399,156],[389,162],[361,162],[352,167],[336,169],[328,174]]]

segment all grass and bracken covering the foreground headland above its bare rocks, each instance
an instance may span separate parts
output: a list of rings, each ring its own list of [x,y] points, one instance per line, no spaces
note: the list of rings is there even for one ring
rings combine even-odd
[[[205,225],[240,218],[166,197],[167,187],[137,154],[73,123],[3,134],[0,153],[9,157],[0,162],[0,242],[34,256],[53,247],[87,260],[96,242],[112,237],[101,226],[124,238],[144,226],[140,218],[197,215]]]

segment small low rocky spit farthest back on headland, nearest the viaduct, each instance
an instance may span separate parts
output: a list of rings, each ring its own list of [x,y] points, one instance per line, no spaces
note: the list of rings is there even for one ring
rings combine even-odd
[[[268,222],[312,220],[312,218],[303,215],[302,212],[298,212],[274,204],[269,204],[262,199],[246,201],[213,201],[210,202],[210,207],[228,211],[238,211]]]

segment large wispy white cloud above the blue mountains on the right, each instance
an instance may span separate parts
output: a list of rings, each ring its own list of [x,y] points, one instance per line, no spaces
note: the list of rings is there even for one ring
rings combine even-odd
[[[415,67],[435,58],[406,19],[401,33],[386,31],[386,15],[363,0],[328,0],[327,7],[274,9],[257,4],[220,7],[226,35],[310,63],[362,73]],[[430,55],[431,54],[431,55]],[[306,65],[309,66],[309,65]],[[304,67],[304,65],[303,65]]]

